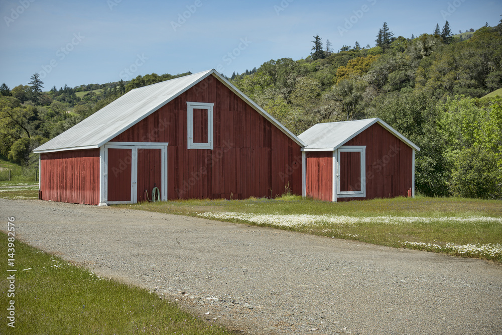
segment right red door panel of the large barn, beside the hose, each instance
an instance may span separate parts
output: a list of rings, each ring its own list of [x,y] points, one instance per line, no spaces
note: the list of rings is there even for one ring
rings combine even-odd
[[[152,190],[158,187],[162,198],[162,150],[138,149],[138,202],[152,200]]]

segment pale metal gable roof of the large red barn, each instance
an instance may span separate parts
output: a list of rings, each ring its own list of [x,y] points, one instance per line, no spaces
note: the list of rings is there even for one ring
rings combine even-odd
[[[239,91],[216,70],[212,69],[135,88],[64,133],[36,148],[33,152],[99,148],[210,75],[216,77],[298,145],[305,146],[305,143],[279,121]]]

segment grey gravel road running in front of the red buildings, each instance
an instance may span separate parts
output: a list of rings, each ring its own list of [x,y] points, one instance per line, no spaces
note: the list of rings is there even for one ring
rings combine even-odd
[[[112,207],[0,199],[0,213],[17,240],[243,333],[502,332],[502,266],[482,260]]]

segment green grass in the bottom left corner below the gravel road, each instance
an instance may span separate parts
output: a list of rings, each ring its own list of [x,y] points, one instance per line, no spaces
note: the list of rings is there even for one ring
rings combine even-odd
[[[7,272],[5,233],[0,233],[0,244],[2,334],[231,333],[145,289],[99,278],[19,241],[15,241],[15,266],[9,267],[17,272]],[[8,299],[11,273],[15,273],[15,296]],[[15,328],[7,326],[10,299],[15,301]]]

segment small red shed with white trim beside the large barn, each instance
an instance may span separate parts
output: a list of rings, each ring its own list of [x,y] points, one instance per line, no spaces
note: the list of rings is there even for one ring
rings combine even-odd
[[[298,136],[303,196],[326,201],[415,196],[420,148],[384,121],[317,124]]]

